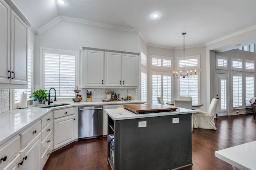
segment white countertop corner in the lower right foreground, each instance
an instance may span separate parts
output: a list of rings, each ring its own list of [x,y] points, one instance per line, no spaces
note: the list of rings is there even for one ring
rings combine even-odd
[[[256,170],[256,141],[215,151],[215,156],[240,170]]]

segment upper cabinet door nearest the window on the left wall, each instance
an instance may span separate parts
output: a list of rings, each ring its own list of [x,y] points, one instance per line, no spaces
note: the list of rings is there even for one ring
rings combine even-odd
[[[11,11],[12,40],[11,40],[11,66],[12,84],[28,84],[28,27]]]

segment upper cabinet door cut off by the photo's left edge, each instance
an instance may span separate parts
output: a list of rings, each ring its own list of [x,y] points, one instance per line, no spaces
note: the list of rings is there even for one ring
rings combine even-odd
[[[0,83],[10,83],[10,7],[0,0]]]

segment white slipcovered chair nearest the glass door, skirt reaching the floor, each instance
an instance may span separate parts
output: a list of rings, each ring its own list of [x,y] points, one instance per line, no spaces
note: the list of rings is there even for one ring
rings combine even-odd
[[[214,122],[214,115],[216,114],[216,107],[218,99],[213,98],[208,112],[198,111],[193,116],[193,127],[201,129],[214,129],[217,130]]]

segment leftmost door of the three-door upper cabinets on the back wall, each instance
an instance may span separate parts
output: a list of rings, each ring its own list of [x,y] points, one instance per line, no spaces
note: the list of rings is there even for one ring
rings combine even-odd
[[[104,86],[104,52],[85,50],[84,55],[83,85]]]

